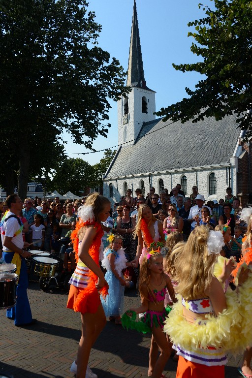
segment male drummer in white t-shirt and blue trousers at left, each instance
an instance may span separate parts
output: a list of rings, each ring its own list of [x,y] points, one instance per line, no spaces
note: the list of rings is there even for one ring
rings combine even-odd
[[[29,326],[34,324],[36,319],[32,319],[27,296],[28,275],[25,258],[32,254],[24,250],[29,243],[23,241],[23,224],[18,218],[23,202],[17,194],[11,194],[7,197],[6,204],[9,211],[0,223],[3,258],[6,263],[13,263],[17,266],[16,273],[19,276],[16,306],[8,309],[6,316],[8,319],[13,319],[16,326]]]

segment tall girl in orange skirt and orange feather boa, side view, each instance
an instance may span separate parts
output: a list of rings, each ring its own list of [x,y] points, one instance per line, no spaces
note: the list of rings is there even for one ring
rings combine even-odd
[[[107,294],[107,283],[99,267],[99,249],[103,229],[100,222],[109,216],[110,201],[98,193],[91,194],[78,211],[80,221],[71,234],[77,267],[70,280],[67,308],[81,313],[82,336],[79,343],[77,361],[73,361],[70,371],[77,378],[97,377],[88,366],[91,348],[106,324],[101,305],[101,295]]]

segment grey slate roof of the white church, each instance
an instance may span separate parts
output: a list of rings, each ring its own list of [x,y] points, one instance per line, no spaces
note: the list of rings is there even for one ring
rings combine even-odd
[[[146,122],[135,144],[119,149],[104,179],[229,163],[241,132],[235,120]]]

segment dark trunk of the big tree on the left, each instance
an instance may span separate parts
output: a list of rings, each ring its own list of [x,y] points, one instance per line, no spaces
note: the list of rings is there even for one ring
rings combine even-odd
[[[24,201],[27,197],[27,184],[30,166],[30,148],[27,135],[23,134],[22,144],[19,145],[19,176],[18,176],[18,195]]]

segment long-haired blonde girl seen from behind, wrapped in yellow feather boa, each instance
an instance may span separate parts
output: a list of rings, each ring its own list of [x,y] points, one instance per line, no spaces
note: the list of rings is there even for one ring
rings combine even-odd
[[[245,292],[252,293],[251,278],[243,288],[250,270],[242,268],[238,288],[225,295],[220,281],[224,283],[230,276],[233,260],[223,263],[220,281],[213,275],[223,245],[221,231],[210,231],[202,225],[191,232],[185,245],[178,247],[180,251],[172,252],[179,256],[175,259],[174,279],[181,298],[173,306],[164,331],[179,355],[177,378],[224,378],[225,352],[239,352],[251,337],[241,334],[246,311],[252,311],[244,297]]]

